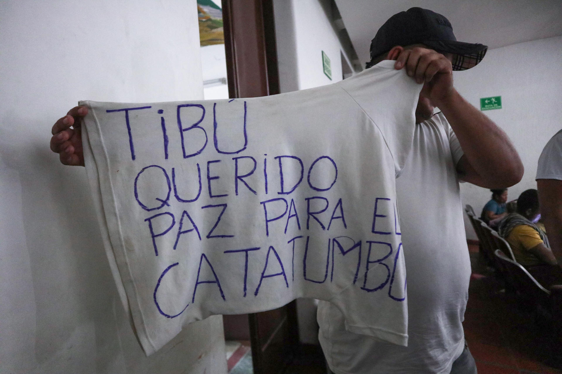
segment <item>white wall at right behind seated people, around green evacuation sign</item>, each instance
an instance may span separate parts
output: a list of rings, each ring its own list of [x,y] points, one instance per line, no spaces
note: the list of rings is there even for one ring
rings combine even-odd
[[[457,90],[480,108],[480,98],[501,96],[502,109],[486,113],[510,137],[518,150],[525,174],[509,188],[513,200],[528,188],[537,188],[537,161],[546,142],[562,128],[562,36],[489,50],[478,66],[455,72]],[[492,193],[463,183],[463,204],[477,214]],[[467,237],[476,239],[465,216]]]

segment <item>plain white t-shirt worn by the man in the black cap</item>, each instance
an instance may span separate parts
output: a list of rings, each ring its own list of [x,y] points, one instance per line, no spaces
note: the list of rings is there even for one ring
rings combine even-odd
[[[470,259],[456,163],[463,155],[438,113],[416,125],[396,180],[408,290],[408,346],[345,331],[342,315],[320,302],[320,343],[337,374],[449,373],[464,348]]]

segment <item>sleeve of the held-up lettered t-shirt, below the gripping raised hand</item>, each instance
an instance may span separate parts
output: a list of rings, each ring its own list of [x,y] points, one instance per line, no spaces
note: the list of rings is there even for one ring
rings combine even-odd
[[[422,85],[385,60],[338,82],[382,133],[399,173],[414,139],[415,108]]]

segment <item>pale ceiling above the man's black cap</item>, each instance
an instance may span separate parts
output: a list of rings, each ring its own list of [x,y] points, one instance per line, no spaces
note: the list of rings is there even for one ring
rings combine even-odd
[[[411,7],[441,13],[459,41],[490,49],[562,35],[562,0],[335,0],[361,64],[371,39],[393,14]]]

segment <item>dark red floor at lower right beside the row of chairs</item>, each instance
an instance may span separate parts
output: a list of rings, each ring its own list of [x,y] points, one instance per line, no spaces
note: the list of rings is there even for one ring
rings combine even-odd
[[[562,374],[562,346],[522,311],[469,245],[472,263],[464,330],[478,374]]]

